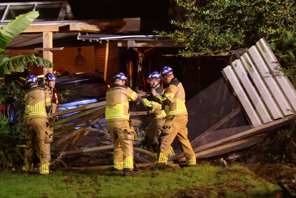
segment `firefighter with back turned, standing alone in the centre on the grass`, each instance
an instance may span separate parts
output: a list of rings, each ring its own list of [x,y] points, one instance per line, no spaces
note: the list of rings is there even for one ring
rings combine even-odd
[[[136,176],[133,171],[133,144],[136,132],[129,120],[129,100],[139,104],[141,98],[125,86],[127,77],[119,72],[114,85],[106,92],[106,124],[114,144],[114,170],[123,170],[124,176]]]

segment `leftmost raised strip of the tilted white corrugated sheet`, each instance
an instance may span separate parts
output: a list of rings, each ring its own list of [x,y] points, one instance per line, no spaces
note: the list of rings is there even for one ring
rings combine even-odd
[[[252,106],[252,103],[247,97],[247,94],[242,88],[239,79],[237,78],[231,66],[227,66],[226,68],[224,68],[222,73],[225,79],[231,84],[235,95],[242,104],[242,107],[246,113],[247,118],[249,119],[249,122],[255,127],[262,125],[262,121],[259,119],[255,109]]]

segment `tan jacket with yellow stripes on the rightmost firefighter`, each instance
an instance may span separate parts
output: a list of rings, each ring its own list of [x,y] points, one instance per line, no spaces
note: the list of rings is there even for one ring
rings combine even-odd
[[[185,91],[182,83],[179,82],[176,77],[171,80],[162,96],[157,93],[154,98],[156,102],[165,105],[165,113],[167,116],[188,115],[185,106]]]

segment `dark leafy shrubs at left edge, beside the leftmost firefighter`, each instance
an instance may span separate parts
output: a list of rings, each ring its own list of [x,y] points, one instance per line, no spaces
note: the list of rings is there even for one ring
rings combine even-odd
[[[0,84],[0,105],[3,103],[24,103],[25,91],[21,90],[18,84]],[[10,119],[4,113],[0,114],[0,167],[11,167],[20,163],[23,159],[22,151],[26,140],[23,132],[24,110],[17,112],[20,122],[17,125],[10,123]]]

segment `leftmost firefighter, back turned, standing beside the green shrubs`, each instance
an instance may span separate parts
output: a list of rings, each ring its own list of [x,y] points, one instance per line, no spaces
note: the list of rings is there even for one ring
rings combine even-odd
[[[51,109],[50,96],[44,88],[38,87],[37,76],[29,75],[26,82],[29,86],[29,91],[24,98],[27,146],[22,170],[28,172],[33,169],[34,144],[37,136],[40,148],[39,172],[49,174],[50,143],[52,142],[52,132],[49,129],[48,122],[48,114]]]

